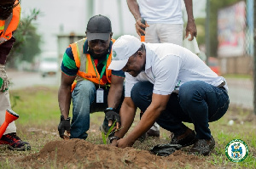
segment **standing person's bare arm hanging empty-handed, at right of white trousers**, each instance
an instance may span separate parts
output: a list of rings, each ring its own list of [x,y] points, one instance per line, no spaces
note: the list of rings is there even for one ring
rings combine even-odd
[[[188,14],[188,24],[186,27],[185,38],[189,36],[189,32],[190,32],[191,38],[189,39],[189,41],[192,41],[194,37],[196,37],[197,35],[197,30],[196,30],[194,15],[193,15],[193,3],[192,3],[192,0],[184,0],[184,3],[185,3],[187,14]]]

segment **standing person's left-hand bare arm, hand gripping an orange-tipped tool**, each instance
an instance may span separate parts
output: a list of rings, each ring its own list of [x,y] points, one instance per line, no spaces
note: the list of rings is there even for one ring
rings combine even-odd
[[[143,29],[141,27],[146,28],[149,25],[147,24],[147,21],[146,21],[145,25],[141,22],[142,17],[141,17],[141,14],[140,14],[140,10],[139,10],[137,0],[127,0],[127,4],[128,4],[128,8],[131,11],[131,14],[133,15],[134,19],[136,20],[135,29],[137,31],[137,34],[139,36],[141,36],[141,33],[143,33],[145,35],[146,32],[143,31]]]

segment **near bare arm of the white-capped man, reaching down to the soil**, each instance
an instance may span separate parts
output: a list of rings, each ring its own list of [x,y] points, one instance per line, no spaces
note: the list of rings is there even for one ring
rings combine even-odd
[[[138,122],[137,126],[131,131],[131,133],[129,133],[126,138],[120,139],[118,141],[118,147],[125,148],[132,146],[137,138],[141,137],[144,132],[147,132],[159,117],[160,113],[166,109],[166,104],[169,98],[170,95],[160,95],[153,93],[152,102],[148,106],[148,109],[144,112],[141,121]]]

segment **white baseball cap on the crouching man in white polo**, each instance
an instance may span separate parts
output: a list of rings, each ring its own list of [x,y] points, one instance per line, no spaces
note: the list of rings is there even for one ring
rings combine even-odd
[[[109,70],[121,70],[125,67],[128,59],[141,48],[142,42],[131,35],[119,37],[112,46],[112,61]]]

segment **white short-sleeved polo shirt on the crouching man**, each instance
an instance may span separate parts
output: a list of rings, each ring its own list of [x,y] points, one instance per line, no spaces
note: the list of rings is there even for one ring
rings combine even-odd
[[[185,82],[203,81],[218,87],[226,82],[213,72],[197,55],[172,43],[144,43],[146,47],[145,71],[137,77],[125,72],[125,97],[131,97],[131,88],[137,82],[154,84],[153,93],[168,95],[178,92]],[[228,91],[227,82],[224,86]]]

